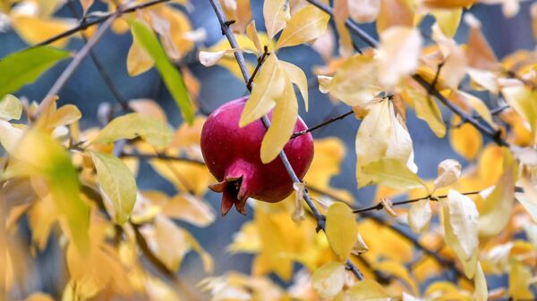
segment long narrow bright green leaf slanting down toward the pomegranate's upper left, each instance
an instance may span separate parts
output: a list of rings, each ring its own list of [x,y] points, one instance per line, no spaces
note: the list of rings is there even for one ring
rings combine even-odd
[[[164,79],[166,87],[174,97],[175,103],[181,108],[183,118],[189,124],[192,124],[194,119],[194,109],[181,73],[179,73],[175,66],[170,63],[164,48],[158,42],[157,36],[155,36],[147,26],[140,21],[134,20],[131,20],[130,24],[132,28],[132,37],[145,49],[149,56],[153,58],[155,66],[162,76],[162,79]]]

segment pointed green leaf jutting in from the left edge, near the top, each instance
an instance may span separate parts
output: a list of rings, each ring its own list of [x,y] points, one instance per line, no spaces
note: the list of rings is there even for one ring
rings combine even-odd
[[[33,82],[44,71],[70,55],[48,46],[30,48],[0,60],[0,98]]]

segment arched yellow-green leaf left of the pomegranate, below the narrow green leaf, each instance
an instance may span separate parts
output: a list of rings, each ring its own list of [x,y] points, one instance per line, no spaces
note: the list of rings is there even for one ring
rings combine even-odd
[[[130,113],[115,118],[100,131],[92,143],[107,144],[120,139],[141,137],[152,146],[167,146],[174,134],[166,123],[141,113]]]

